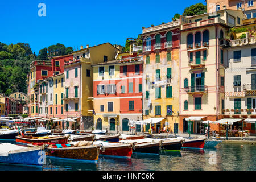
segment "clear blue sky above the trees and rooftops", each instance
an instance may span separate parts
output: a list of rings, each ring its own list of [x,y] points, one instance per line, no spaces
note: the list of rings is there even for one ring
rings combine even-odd
[[[39,3],[46,4],[46,17],[39,17]],[[0,1],[0,42],[29,43],[40,49],[61,43],[80,49],[110,42],[125,45],[137,38],[142,27],[170,22],[175,13],[204,0],[12,0]]]

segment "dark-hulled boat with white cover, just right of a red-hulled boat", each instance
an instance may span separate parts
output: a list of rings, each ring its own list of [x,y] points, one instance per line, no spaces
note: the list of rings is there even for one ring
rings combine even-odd
[[[137,140],[120,140],[120,143],[133,143],[133,153],[159,155],[160,142],[148,140],[148,138]]]

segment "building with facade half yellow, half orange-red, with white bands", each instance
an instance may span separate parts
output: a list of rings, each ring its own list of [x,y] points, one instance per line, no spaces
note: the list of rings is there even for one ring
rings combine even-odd
[[[142,119],[142,55],[119,53],[117,60],[94,64],[94,126],[109,133],[130,133],[129,122]],[[141,132],[141,126],[136,126]]]

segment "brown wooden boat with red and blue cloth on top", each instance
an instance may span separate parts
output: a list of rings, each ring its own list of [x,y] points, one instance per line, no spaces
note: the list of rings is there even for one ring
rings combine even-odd
[[[81,162],[97,163],[100,154],[100,145],[80,141],[75,144],[50,144],[47,147],[46,155],[61,159],[72,159]]]

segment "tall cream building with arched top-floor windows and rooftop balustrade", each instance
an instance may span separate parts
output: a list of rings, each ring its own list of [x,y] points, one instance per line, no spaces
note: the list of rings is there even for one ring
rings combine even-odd
[[[246,16],[241,10],[226,9],[180,17],[180,133],[204,134],[201,121],[223,118],[226,32],[243,19]],[[212,129],[218,131],[218,126],[214,124]]]

